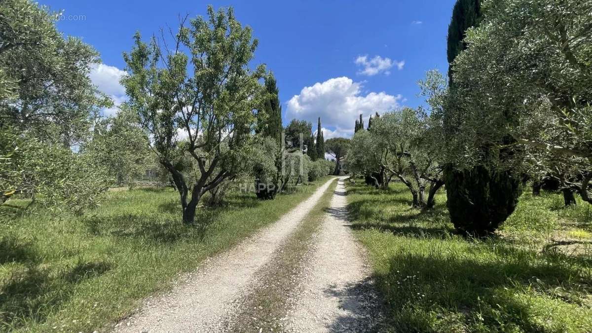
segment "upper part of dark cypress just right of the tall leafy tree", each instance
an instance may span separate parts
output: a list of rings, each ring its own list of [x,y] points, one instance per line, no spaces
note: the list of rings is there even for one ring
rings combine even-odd
[[[282,105],[279,103],[279,90],[273,73],[265,79],[265,90],[269,94],[262,110],[266,120],[259,124],[258,130],[263,136],[274,137],[279,142],[282,135]]]

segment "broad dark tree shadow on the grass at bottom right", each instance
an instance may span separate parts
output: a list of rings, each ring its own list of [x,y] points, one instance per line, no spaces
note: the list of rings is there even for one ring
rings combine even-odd
[[[579,299],[582,286],[592,287],[578,267],[545,254],[516,247],[496,251],[486,244],[462,255],[445,246],[431,253],[411,248],[385,259],[388,271],[375,278],[394,331],[497,331],[502,325],[548,331],[536,320],[548,303],[537,303],[543,301],[536,296],[570,303]],[[558,289],[573,297],[559,299]]]

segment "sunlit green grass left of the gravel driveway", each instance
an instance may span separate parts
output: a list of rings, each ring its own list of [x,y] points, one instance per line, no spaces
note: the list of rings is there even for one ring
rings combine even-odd
[[[199,209],[181,223],[172,189],[114,191],[82,217],[36,207],[0,224],[0,331],[93,331],[130,313],[142,297],[169,287],[297,206],[321,184],[259,201],[231,193],[227,206]]]

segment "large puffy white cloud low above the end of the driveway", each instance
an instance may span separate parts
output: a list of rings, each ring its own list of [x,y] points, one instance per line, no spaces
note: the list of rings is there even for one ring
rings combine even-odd
[[[386,92],[362,94],[362,84],[343,76],[317,82],[311,87],[304,87],[299,95],[288,101],[287,119],[303,119],[316,124],[321,117],[325,139],[330,137],[349,137],[353,135],[353,126],[360,114],[365,119],[375,112],[384,113],[400,107],[401,95],[389,95]]]

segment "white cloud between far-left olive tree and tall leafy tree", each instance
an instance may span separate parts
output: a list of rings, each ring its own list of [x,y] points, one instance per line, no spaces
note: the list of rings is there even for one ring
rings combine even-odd
[[[91,72],[88,76],[92,84],[96,85],[99,91],[109,95],[115,104],[114,107],[103,110],[104,116],[115,116],[118,110],[117,107],[127,100],[126,88],[119,83],[121,77],[126,74],[126,71],[104,63],[96,63],[91,66]]]

